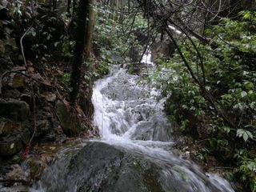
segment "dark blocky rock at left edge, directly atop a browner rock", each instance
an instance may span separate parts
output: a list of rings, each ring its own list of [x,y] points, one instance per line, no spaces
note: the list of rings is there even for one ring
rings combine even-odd
[[[30,115],[30,106],[26,102],[16,99],[10,101],[0,100],[0,117],[10,118],[14,121],[25,121]]]

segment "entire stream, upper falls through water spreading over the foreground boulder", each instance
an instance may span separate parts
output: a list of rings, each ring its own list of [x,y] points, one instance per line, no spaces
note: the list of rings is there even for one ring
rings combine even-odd
[[[142,62],[154,65],[150,54]],[[120,66],[95,82],[94,123],[102,138],[62,151],[40,191],[234,191],[224,178],[175,153],[174,127],[157,95]]]

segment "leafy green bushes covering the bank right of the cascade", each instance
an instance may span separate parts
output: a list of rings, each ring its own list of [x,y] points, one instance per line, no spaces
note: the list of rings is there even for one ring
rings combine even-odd
[[[198,157],[208,154],[234,167],[234,177],[256,191],[256,17],[241,12],[238,20],[225,18],[207,29],[210,45],[193,40],[179,47],[198,79],[206,77],[204,89],[194,81],[179,54],[158,59],[158,73],[153,74],[162,96],[167,97],[166,111],[185,134],[201,141]],[[201,56],[201,61],[198,57]],[[201,62],[204,71],[201,70]],[[214,107],[225,114],[223,119]]]

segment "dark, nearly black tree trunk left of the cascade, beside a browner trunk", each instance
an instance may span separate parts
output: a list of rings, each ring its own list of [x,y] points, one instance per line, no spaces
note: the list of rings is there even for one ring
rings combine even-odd
[[[77,34],[76,34],[76,45],[74,49],[74,61],[72,66],[72,73],[70,79],[70,102],[73,106],[76,104],[78,91],[81,82],[82,76],[82,62],[83,62],[83,52],[85,50],[86,42],[86,26],[87,17],[89,13],[89,0],[80,0],[78,4],[78,27],[77,27]]]

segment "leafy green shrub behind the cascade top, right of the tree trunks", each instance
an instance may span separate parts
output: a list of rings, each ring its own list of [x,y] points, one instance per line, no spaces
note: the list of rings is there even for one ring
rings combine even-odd
[[[112,64],[131,62],[133,55],[130,55],[130,50],[140,53],[142,46],[139,45],[134,35],[134,28],[133,31],[128,28],[124,30],[124,27],[130,22],[129,15],[123,15],[121,22],[121,18],[109,16],[110,11],[107,7],[98,8],[97,14],[94,34],[96,56],[101,61]],[[140,19],[142,20],[142,18],[135,18],[136,21]],[[139,22],[134,27],[138,25]]]

